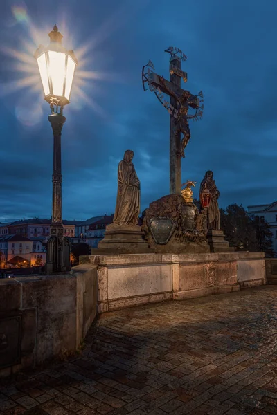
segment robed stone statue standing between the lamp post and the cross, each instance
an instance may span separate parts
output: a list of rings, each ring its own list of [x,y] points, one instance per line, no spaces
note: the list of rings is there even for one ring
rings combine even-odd
[[[126,150],[118,164],[118,191],[113,225],[137,225],[139,221],[141,182],[132,163],[134,151]]]

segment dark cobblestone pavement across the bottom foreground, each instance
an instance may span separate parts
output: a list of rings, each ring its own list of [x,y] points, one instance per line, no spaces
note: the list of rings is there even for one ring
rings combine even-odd
[[[0,386],[1,414],[277,414],[277,286],[102,315],[79,356]]]

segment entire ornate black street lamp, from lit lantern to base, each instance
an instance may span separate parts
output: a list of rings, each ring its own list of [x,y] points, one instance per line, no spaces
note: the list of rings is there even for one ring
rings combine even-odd
[[[39,45],[35,58],[42,79],[44,99],[49,102],[54,136],[53,154],[53,199],[50,238],[47,243],[46,272],[58,273],[70,270],[70,242],[64,237],[62,226],[62,160],[61,135],[66,118],[62,115],[64,105],[69,104],[75,66],[78,62],[73,50],[62,46],[62,34],[55,25],[47,47]]]

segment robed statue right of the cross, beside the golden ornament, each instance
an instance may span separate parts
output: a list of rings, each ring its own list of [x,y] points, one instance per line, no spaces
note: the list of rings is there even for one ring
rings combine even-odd
[[[217,199],[220,197],[215,181],[213,180],[213,172],[208,170],[200,185],[200,194],[202,190],[208,190],[211,194],[211,201],[208,207],[208,230],[220,230],[220,208]]]

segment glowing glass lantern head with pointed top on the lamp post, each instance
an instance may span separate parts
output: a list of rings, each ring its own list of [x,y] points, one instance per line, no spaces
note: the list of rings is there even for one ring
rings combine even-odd
[[[71,87],[75,67],[78,61],[73,50],[66,50],[62,46],[62,34],[55,25],[48,34],[50,44],[47,47],[39,45],[35,51],[35,58],[39,67],[39,74],[44,89],[44,99],[59,105],[69,104]]]

